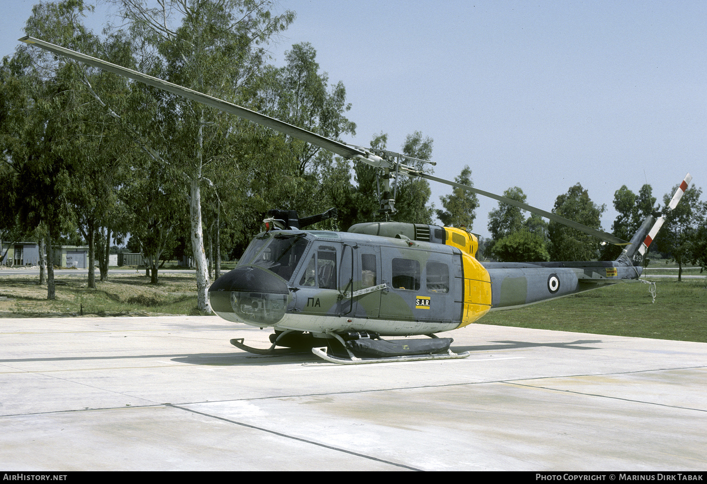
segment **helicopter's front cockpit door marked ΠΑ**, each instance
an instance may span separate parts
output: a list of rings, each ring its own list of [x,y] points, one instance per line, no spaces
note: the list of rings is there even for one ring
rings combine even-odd
[[[351,278],[349,246],[339,242],[315,242],[294,282],[295,310],[317,316],[345,316],[351,300],[341,291]]]

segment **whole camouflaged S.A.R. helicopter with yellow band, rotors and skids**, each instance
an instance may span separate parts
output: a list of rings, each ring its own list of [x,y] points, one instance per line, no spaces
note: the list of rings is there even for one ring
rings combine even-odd
[[[347,232],[304,230],[334,218],[335,209],[306,218],[300,218],[296,211],[272,210],[264,219],[265,230],[250,242],[238,265],[209,288],[211,308],[221,318],[274,330],[269,348],[252,348],[240,338],[230,341],[250,353],[311,351],[340,364],[466,358],[468,351],[453,353],[453,339],[437,334],[468,326],[490,311],[524,307],[616,283],[639,282],[643,256],[665,222],[665,215],[677,206],[691,182],[691,175],[686,175],[665,213],[648,216],[627,242],[555,213],[434,177],[406,164],[424,160],[325,138],[43,40],[20,40],[371,165],[381,173],[382,214],[395,212],[390,179],[403,175],[488,196],[624,246],[614,261],[479,261],[479,241],[465,228],[380,221],[352,225]],[[404,338],[389,338],[397,336]]]

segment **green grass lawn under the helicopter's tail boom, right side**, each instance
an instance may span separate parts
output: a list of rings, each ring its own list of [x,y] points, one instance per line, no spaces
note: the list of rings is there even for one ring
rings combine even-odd
[[[655,281],[655,303],[648,284],[617,284],[522,309],[490,312],[479,323],[707,343],[707,281]]]

